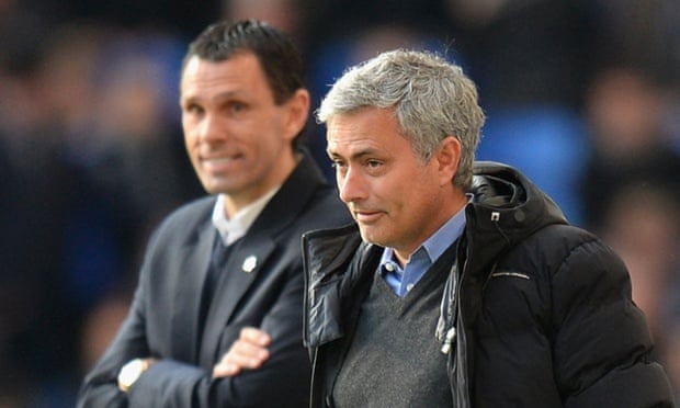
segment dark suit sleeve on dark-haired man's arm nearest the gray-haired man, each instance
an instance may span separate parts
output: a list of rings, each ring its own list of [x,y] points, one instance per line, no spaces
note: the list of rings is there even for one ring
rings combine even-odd
[[[154,364],[132,387],[131,407],[275,407],[308,404],[310,365],[302,344],[302,272],[290,279],[260,328],[272,337],[271,358],[259,370],[213,378],[212,370],[172,360]],[[225,329],[235,339],[241,325]],[[225,344],[226,349],[230,345]],[[226,351],[226,350],[224,350]],[[216,359],[219,360],[220,355]]]

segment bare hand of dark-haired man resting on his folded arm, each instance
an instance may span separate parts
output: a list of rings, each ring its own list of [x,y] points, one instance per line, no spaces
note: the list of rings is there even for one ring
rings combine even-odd
[[[259,369],[269,359],[272,339],[264,331],[254,327],[241,329],[238,340],[213,367],[213,377],[237,375],[243,369]]]

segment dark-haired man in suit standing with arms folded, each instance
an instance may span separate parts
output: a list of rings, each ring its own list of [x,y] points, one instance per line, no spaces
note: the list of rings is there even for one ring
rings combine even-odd
[[[301,236],[350,217],[299,147],[299,54],[265,23],[218,23],[190,45],[180,92],[186,150],[211,195],[152,235],[129,314],[78,406],[306,406]],[[235,361],[239,338],[267,347],[264,363]]]

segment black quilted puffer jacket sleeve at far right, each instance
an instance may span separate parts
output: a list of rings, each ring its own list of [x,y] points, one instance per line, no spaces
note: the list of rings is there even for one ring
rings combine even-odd
[[[592,239],[553,277],[554,363],[566,407],[672,407],[621,259]]]

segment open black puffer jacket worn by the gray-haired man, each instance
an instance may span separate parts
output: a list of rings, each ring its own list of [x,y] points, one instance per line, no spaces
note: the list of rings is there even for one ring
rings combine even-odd
[[[517,170],[478,162],[475,174],[461,268],[432,333],[455,406],[672,407],[620,258]],[[303,246],[311,406],[329,407],[382,248],[356,226],[309,233]]]

